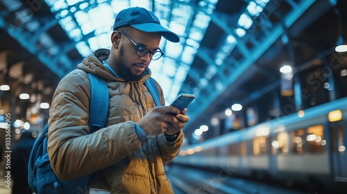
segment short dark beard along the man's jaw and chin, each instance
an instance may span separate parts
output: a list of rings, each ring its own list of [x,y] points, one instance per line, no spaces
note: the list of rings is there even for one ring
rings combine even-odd
[[[119,69],[121,70],[121,78],[123,78],[126,82],[137,82],[138,80],[141,80],[144,76],[147,75],[147,72],[149,71],[149,68],[146,67],[146,69],[144,69],[144,71],[142,71],[141,74],[139,74],[138,76],[135,75],[133,72],[131,72],[129,67],[126,67],[126,65],[124,64],[124,47],[121,46],[120,50],[119,50],[119,60],[117,62],[117,64],[119,64]]]

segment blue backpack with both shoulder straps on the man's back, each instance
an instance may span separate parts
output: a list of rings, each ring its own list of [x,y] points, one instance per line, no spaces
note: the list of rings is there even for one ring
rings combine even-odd
[[[108,115],[108,86],[106,82],[91,73],[87,73],[90,78],[90,118],[88,125],[91,133],[104,127]],[[151,93],[156,106],[160,106],[160,96],[153,78],[148,78],[145,82],[147,89]],[[37,194],[69,194],[85,193],[92,174],[79,177],[77,179],[62,181],[54,173],[47,152],[47,132],[48,123],[44,127],[42,134],[36,139],[28,163],[28,184]]]

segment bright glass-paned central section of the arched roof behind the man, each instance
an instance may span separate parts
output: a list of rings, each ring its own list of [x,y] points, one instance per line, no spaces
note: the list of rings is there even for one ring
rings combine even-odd
[[[178,95],[187,76],[189,66],[210,23],[209,15],[218,0],[200,1],[198,6],[201,9],[198,10],[190,6],[187,0],[45,1],[67,35],[76,42],[76,49],[83,57],[97,48],[110,48],[112,25],[119,11],[134,6],[153,11],[162,26],[180,37],[179,43],[168,42],[163,38],[160,48],[165,55],[160,60],[152,61],[150,65],[152,77],[162,85],[169,104]]]

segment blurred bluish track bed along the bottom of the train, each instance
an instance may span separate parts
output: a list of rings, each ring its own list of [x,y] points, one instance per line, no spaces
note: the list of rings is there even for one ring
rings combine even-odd
[[[172,166],[167,170],[167,176],[174,188],[175,194],[189,193],[266,193],[266,194],[305,194],[283,186],[262,184],[247,179],[241,179],[221,172],[210,172],[196,168]]]

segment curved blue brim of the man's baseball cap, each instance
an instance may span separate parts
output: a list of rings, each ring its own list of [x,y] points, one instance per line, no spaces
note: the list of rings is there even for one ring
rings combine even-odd
[[[170,42],[180,42],[178,35],[157,23],[130,24],[130,26],[146,33],[161,33],[162,37]]]

